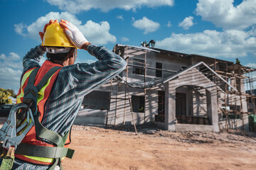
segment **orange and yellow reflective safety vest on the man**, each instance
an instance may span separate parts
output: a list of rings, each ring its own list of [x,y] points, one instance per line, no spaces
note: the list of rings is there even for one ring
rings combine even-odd
[[[36,78],[35,78],[35,83],[34,85],[37,86],[39,84],[39,82],[41,81],[41,79],[43,79],[43,77],[45,76],[46,73],[48,73],[48,71],[50,69],[52,69],[53,67],[63,67],[60,64],[54,64],[50,61],[46,61],[43,63],[43,65],[40,67],[40,69],[38,69],[38,72],[36,74]],[[24,96],[24,89],[28,84],[28,78],[31,75],[31,72],[33,72],[33,69],[29,69],[24,75],[23,78],[21,79],[21,88],[18,91],[18,95],[17,95],[17,103],[22,103],[23,102],[23,96]],[[58,69],[58,68],[57,68]],[[38,110],[38,121],[41,124],[41,121],[43,119],[43,115],[44,115],[44,108],[46,105],[46,101],[48,100],[48,97],[50,96],[50,91],[53,87],[53,84],[55,82],[55,79],[58,77],[58,73],[60,72],[60,69],[58,69],[46,82],[46,84],[41,88],[40,91],[38,91],[38,98],[37,98],[37,110]],[[36,118],[35,118],[36,119]],[[50,131],[50,130],[48,130]],[[51,131],[53,132],[53,131]],[[65,137],[63,137],[63,147],[68,147],[68,145],[70,144],[70,133],[68,132],[68,134],[65,135]],[[18,145],[19,147],[20,145]],[[52,145],[49,142],[44,142],[43,140],[38,140],[37,134],[36,134],[36,125],[33,125],[33,127],[31,128],[31,130],[28,131],[28,133],[26,134],[26,136],[23,138],[23,140],[21,141],[21,146],[23,147],[28,147],[27,149],[40,149],[42,147],[44,147],[44,151],[46,152],[46,149],[54,149],[53,147],[56,147],[56,145]],[[33,147],[34,146],[34,147]],[[17,148],[19,149],[19,148]],[[25,149],[23,149],[25,150]],[[22,153],[23,151],[21,151]],[[25,150],[26,152],[26,150]],[[37,152],[37,151],[34,151]],[[40,152],[40,150],[38,150],[38,152]],[[40,155],[40,154],[39,154]],[[43,154],[45,155],[45,154]],[[18,159],[21,159],[23,161],[26,162],[31,162],[33,164],[54,164],[55,159],[53,158],[49,158],[49,157],[34,157],[34,156],[28,156],[26,154],[15,154],[15,157]]]

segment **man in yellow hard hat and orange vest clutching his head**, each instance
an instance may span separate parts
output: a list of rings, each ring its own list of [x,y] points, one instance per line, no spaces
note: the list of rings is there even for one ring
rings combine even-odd
[[[18,153],[15,152],[11,169],[61,169],[63,157],[38,157],[38,155],[49,154],[47,149],[54,147],[61,149],[69,145],[70,129],[83,97],[117,76],[127,64],[122,57],[105,47],[92,45],[80,30],[68,21],[61,20],[58,23],[57,20],[50,20],[39,34],[42,45],[32,48],[23,57],[21,89],[18,91],[17,103],[23,102],[25,88],[33,70],[39,68],[35,74],[36,86],[50,69],[53,67],[57,69],[47,79],[47,83],[43,85],[37,97],[37,111],[40,114],[34,119],[35,122],[36,119],[40,122],[43,130],[38,134],[36,124],[28,131],[21,141],[21,146],[18,145],[16,149]],[[77,49],[87,50],[90,55],[97,58],[97,62],[74,64],[77,59]],[[39,62],[45,52],[48,60],[40,66]],[[55,139],[51,140],[54,138],[53,135],[60,136],[61,145],[55,145]],[[27,152],[29,155],[26,154]],[[69,153],[70,150],[65,153],[65,157],[68,157],[66,154]]]

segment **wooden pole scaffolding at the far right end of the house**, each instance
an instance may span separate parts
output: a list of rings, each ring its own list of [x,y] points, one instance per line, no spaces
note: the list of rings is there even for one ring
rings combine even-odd
[[[238,119],[240,119],[242,120],[242,130],[245,130],[245,115],[256,114],[256,95],[252,93],[252,89],[254,89],[253,82],[256,79],[246,77],[244,74],[255,72],[255,69],[242,67],[238,64],[232,64],[231,66],[225,64],[223,70],[218,70],[216,67],[214,69],[225,81],[232,82],[235,89],[237,89],[237,91],[230,89],[226,84],[222,88],[218,88],[218,94],[224,94],[224,106],[219,107],[219,115],[220,119],[225,117],[225,129],[235,128],[235,130],[240,130],[238,128]],[[216,86],[219,87],[221,84],[218,84],[217,81]],[[246,90],[245,87],[247,87]],[[230,108],[230,106],[233,107]]]

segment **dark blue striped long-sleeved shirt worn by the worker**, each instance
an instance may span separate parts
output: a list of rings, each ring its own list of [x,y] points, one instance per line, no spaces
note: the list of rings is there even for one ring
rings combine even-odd
[[[78,63],[60,69],[46,102],[41,123],[48,130],[58,132],[61,136],[73,125],[83,97],[117,76],[127,64],[122,57],[105,47],[89,45],[87,51],[97,58],[97,62]],[[41,67],[39,62],[44,53],[45,51],[38,45],[23,57],[21,79],[28,69]],[[15,159],[14,169],[48,169],[48,167],[35,166]]]

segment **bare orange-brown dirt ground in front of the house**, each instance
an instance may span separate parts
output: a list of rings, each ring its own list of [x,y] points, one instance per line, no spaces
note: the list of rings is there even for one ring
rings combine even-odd
[[[74,169],[256,169],[256,135],[73,125]]]

